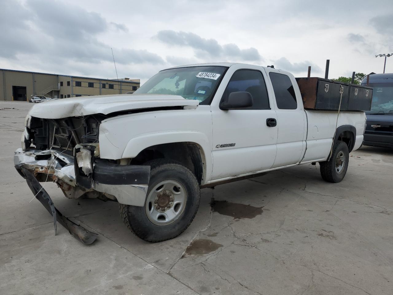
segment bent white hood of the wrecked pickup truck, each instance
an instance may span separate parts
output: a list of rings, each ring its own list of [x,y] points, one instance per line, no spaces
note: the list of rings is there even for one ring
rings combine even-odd
[[[46,119],[110,114],[112,112],[158,107],[196,109],[198,100],[186,100],[179,95],[166,94],[115,94],[63,98],[34,105],[29,116]]]

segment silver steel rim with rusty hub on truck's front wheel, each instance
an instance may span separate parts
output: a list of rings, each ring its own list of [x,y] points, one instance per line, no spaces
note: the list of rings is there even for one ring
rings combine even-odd
[[[184,186],[173,179],[156,184],[146,198],[147,218],[155,225],[168,225],[176,221],[183,213],[187,193]]]

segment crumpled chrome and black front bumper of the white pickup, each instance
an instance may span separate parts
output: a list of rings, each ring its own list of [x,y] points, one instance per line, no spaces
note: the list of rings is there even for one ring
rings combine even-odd
[[[101,192],[125,205],[143,206],[149,185],[150,166],[118,165],[95,159],[89,186],[78,185],[75,176],[75,158],[56,150],[31,149],[15,151],[14,164],[26,179],[22,168],[31,172],[40,182],[55,181],[66,197],[77,198],[86,192]],[[85,175],[85,178],[87,176]],[[82,183],[82,181],[81,181]],[[113,196],[113,197],[112,197]]]

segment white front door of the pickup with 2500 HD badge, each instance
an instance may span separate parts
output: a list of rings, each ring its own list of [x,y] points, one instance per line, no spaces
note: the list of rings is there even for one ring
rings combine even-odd
[[[227,100],[231,92],[246,91],[252,95],[253,105],[224,111],[219,108],[219,100],[212,103],[212,179],[270,169],[277,153],[278,129],[271,124],[277,122],[277,115],[266,89],[265,72],[257,66],[237,70],[231,66],[228,74],[231,70],[221,101]]]

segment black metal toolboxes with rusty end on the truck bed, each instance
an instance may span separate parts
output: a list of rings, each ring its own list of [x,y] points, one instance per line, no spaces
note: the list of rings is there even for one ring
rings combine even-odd
[[[340,89],[343,91],[340,111],[366,111],[371,107],[372,89],[370,87],[356,85],[358,94],[352,98],[351,87],[355,86],[353,84],[318,77],[296,78],[296,81],[305,109],[338,111]],[[362,92],[360,89],[363,89]],[[366,99],[360,100],[360,97],[365,96],[366,90],[369,90]]]

